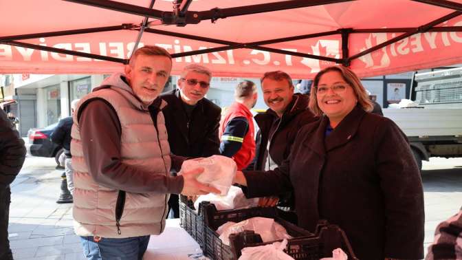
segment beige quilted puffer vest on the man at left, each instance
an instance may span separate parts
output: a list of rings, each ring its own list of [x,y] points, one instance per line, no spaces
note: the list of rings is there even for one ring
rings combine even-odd
[[[129,91],[111,87],[85,96],[76,107],[72,127],[71,151],[75,186],[73,215],[76,234],[109,238],[158,235],[165,226],[168,194],[126,192],[122,199],[123,213],[120,221],[116,221],[119,191],[99,185],[89,174],[83,158],[78,115],[80,106],[94,98],[109,102],[118,115],[122,130],[120,155],[123,164],[150,171],[153,175],[168,175],[171,164],[162,112],[157,114],[156,129],[147,108]],[[162,102],[162,106],[165,105]]]

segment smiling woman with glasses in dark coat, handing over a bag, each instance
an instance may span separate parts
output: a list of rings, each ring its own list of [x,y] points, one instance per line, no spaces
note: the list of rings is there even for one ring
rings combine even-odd
[[[289,159],[274,171],[245,171],[236,183],[248,197],[294,190],[298,225],[319,219],[346,233],[359,259],[423,258],[423,191],[406,136],[369,111],[358,77],[328,67],[314,79],[305,125]]]

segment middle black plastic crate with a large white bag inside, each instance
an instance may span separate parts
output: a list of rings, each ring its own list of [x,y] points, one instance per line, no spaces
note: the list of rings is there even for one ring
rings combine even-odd
[[[230,235],[230,246],[222,243],[219,239],[219,235],[215,230],[219,226],[225,224],[228,221],[239,222],[251,217],[268,217],[275,219],[281,224],[289,235],[292,237],[313,237],[314,234],[299,228],[284,219],[278,217],[276,208],[245,208],[240,210],[221,210],[218,211],[213,204],[208,202],[201,202],[199,204],[199,210],[203,213],[203,220],[205,221],[205,246],[203,248],[203,254],[206,257],[214,260],[233,260],[238,259],[241,256],[242,248],[248,246],[261,246],[266,243],[262,243],[261,237],[255,234],[254,231],[246,230],[239,234]],[[294,250],[292,248],[292,250]],[[302,259],[302,258],[300,258]]]

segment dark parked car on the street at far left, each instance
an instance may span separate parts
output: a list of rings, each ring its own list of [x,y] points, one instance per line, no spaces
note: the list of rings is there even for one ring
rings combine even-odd
[[[59,158],[63,153],[63,147],[52,142],[50,138],[57,125],[58,123],[56,122],[42,129],[29,129],[29,144],[26,145],[26,147],[30,155],[39,157],[54,157],[56,164],[58,164],[58,166],[62,166]]]

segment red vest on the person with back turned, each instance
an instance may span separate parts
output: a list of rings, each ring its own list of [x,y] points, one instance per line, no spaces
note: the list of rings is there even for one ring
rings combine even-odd
[[[250,164],[250,162],[252,162],[252,160],[254,160],[255,156],[255,127],[253,121],[254,116],[252,115],[252,112],[250,112],[250,110],[245,107],[245,105],[242,105],[239,102],[232,103],[232,105],[226,110],[226,115],[221,118],[219,137],[220,140],[223,140],[223,132],[226,129],[226,125],[228,125],[228,122],[230,122],[232,118],[236,117],[243,117],[247,119],[249,122],[249,130],[247,133],[245,133],[245,136],[242,140],[236,136],[226,136],[226,140],[242,142],[241,149],[239,149],[239,151],[237,151],[237,153],[235,153],[232,157],[234,162],[236,162],[237,169],[242,171]]]

